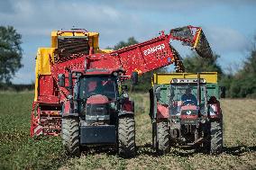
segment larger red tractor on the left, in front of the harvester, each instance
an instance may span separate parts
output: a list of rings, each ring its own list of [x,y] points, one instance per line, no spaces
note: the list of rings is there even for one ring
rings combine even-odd
[[[135,155],[134,103],[120,85],[122,75],[122,69],[69,71],[66,86],[65,76],[59,74],[59,86],[69,89],[61,125],[63,144],[69,154],[79,155],[80,146],[100,144],[118,145],[123,157]]]

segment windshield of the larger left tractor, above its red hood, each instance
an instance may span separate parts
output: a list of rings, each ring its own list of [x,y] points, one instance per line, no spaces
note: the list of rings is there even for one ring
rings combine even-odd
[[[80,98],[102,94],[109,99],[115,99],[115,78],[111,76],[87,76],[80,80]]]

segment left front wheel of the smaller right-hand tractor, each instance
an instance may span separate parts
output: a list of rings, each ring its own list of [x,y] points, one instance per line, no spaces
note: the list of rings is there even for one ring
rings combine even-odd
[[[157,123],[157,153],[159,155],[169,152],[169,128],[168,121]]]

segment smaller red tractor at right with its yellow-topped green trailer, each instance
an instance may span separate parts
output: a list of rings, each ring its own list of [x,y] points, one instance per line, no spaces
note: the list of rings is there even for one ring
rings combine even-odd
[[[216,72],[154,74],[151,92],[153,147],[192,146],[219,154],[223,148],[223,94]]]

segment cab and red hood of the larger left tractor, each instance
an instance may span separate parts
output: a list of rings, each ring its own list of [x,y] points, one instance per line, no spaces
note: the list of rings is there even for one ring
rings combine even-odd
[[[114,125],[119,103],[117,76],[82,76],[78,85],[78,112],[85,125]]]

